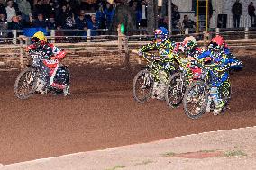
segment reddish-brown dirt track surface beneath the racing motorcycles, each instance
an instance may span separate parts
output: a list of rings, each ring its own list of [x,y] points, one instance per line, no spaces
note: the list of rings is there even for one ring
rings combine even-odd
[[[0,163],[110,148],[158,139],[256,125],[256,58],[231,76],[231,109],[224,115],[190,120],[182,107],[133,100],[133,77],[140,66],[70,66],[71,93],[14,97],[18,72],[0,72]],[[108,69],[111,68],[111,69]]]

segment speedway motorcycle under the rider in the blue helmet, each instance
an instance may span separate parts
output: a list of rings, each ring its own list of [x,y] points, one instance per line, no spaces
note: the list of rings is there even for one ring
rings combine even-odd
[[[142,57],[146,59],[147,66],[137,73],[133,79],[133,98],[138,103],[144,103],[152,97],[155,82],[158,81],[159,63],[153,59],[150,53],[144,52]],[[167,73],[168,76],[170,73]]]

